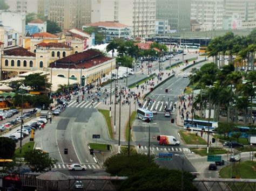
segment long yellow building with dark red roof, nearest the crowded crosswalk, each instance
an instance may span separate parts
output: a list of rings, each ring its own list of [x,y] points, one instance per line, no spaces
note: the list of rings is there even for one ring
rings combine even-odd
[[[89,49],[50,63],[52,75],[76,79],[84,86],[100,79],[116,67],[116,59]]]

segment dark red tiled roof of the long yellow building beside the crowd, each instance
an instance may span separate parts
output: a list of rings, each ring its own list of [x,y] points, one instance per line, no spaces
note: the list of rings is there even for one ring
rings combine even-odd
[[[56,60],[55,62],[50,63],[52,68],[90,68],[100,63],[111,60],[112,58],[101,55],[97,51],[89,49],[88,51],[80,52],[77,54],[72,54],[66,56],[65,58]]]

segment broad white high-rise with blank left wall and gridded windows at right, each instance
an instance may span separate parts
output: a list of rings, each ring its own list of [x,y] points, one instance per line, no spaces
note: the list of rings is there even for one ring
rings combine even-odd
[[[119,22],[132,27],[132,37],[155,34],[156,0],[92,0],[92,22]]]

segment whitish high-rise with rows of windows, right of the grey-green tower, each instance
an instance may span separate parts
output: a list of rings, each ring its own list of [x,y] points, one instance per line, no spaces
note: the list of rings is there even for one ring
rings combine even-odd
[[[201,31],[223,29],[224,0],[192,0],[191,20],[200,24]]]

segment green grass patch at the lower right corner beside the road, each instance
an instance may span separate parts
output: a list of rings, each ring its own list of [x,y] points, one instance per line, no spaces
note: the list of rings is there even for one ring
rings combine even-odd
[[[231,178],[230,170],[231,170],[230,165],[222,168],[220,170],[221,178]],[[254,161],[235,162],[232,165],[232,176],[237,176],[242,179],[256,179],[256,162]]]

